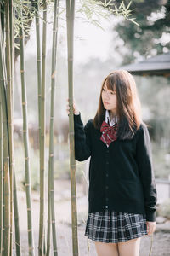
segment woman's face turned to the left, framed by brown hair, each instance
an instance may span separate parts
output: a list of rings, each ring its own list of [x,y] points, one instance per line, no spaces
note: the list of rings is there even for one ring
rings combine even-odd
[[[116,90],[109,90],[106,84],[104,84],[101,97],[104,108],[116,112]]]

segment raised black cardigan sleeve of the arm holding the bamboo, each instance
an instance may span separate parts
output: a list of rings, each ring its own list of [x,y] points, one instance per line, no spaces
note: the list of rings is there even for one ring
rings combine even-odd
[[[75,159],[78,161],[87,160],[91,155],[90,127],[92,121],[83,126],[81,113],[74,114],[74,130],[75,130]]]

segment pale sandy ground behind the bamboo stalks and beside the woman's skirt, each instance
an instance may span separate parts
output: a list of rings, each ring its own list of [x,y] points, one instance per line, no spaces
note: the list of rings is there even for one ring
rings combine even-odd
[[[77,183],[77,217],[78,217],[78,244],[80,256],[97,256],[94,241],[88,240],[84,236],[85,222],[88,217],[88,196],[83,193],[84,188]],[[47,198],[46,192],[46,198]],[[72,255],[71,236],[71,200],[70,181],[55,181],[55,218],[58,256]],[[26,193],[18,192],[19,212],[20,212],[20,237],[22,255],[28,255],[27,246],[27,218],[26,218]],[[45,222],[47,224],[47,201],[45,210]],[[37,256],[38,243],[38,222],[39,222],[39,195],[32,193],[32,220],[35,242],[35,255]],[[150,236],[143,236],[140,244],[139,256],[149,256]],[[52,246],[53,249],[53,246]],[[14,253],[15,255],[15,253]],[[51,255],[53,252],[51,250]],[[170,256],[170,222],[157,224],[156,232],[153,236],[152,253],[150,256]]]

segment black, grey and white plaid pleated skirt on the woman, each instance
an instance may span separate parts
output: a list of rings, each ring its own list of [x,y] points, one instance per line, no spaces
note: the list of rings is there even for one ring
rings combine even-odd
[[[85,236],[93,241],[121,242],[148,235],[144,214],[128,212],[88,213]]]

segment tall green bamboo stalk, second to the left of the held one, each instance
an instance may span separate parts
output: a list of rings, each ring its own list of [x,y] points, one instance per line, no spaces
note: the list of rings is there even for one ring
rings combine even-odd
[[[40,220],[39,220],[39,255],[43,254],[44,231],[44,173],[45,173],[45,79],[46,79],[46,33],[47,33],[47,2],[43,0],[42,28],[42,93],[41,93],[41,148],[40,148]]]

